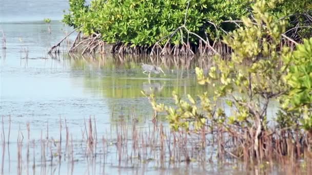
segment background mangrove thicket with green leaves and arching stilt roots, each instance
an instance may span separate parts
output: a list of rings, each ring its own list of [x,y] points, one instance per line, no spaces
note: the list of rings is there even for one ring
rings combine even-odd
[[[255,2],[94,0],[85,5],[84,0],[70,0],[63,22],[79,32],[69,52],[104,53],[105,45],[112,45],[116,54],[227,55],[232,48],[223,38],[244,27],[246,17],[257,25]],[[281,45],[294,48],[311,37],[311,3],[276,2],[269,3],[267,11],[274,14],[272,19],[287,21]],[[57,52],[61,42],[49,52]]]

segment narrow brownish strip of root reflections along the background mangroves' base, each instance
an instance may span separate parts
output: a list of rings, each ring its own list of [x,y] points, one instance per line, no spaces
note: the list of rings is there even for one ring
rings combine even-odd
[[[79,65],[90,64],[94,68],[102,69],[123,69],[123,70],[141,70],[140,63],[157,65],[164,70],[192,70],[196,67],[208,69],[211,67],[212,59],[208,56],[149,56],[149,55],[111,55],[111,54],[68,54],[73,61],[73,67],[79,68]],[[80,62],[76,64],[75,61]]]

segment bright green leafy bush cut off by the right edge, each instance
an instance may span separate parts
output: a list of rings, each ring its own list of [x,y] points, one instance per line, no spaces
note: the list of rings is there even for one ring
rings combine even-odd
[[[283,126],[301,122],[303,128],[312,133],[312,38],[304,39],[285,62],[290,63],[285,77],[289,91],[281,99],[278,119]]]

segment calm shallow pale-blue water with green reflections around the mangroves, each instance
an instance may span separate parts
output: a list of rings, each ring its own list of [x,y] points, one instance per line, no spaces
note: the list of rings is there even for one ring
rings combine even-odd
[[[111,154],[107,156],[107,162],[100,162],[101,154],[96,162],[87,163],[84,157],[85,146],[80,144],[85,119],[91,116],[96,120],[97,134],[104,135],[115,142],[116,133],[121,127],[120,121],[125,121],[131,130],[133,121],[136,127],[143,130],[152,125],[152,109],[148,99],[141,93],[154,93],[159,102],[172,104],[172,91],[177,91],[182,96],[196,95],[204,91],[212,93],[209,86],[200,86],[196,82],[194,67],[209,67],[207,62],[194,61],[180,62],[176,67],[173,63],[162,65],[166,76],[152,75],[151,80],[142,73],[140,63],[151,62],[148,57],[118,57],[106,55],[105,57],[82,57],[77,54],[69,56],[61,54],[50,56],[49,48],[61,40],[72,29],[64,26],[59,20],[62,18],[62,10],[67,9],[67,1],[8,1],[0,2],[0,29],[6,36],[6,50],[0,54],[0,115],[4,119],[3,129],[8,139],[10,129],[10,144],[4,147],[2,165],[4,174],[17,173],[17,137],[21,133],[27,138],[27,123],[30,126],[30,140],[35,140],[33,147],[31,142],[25,141],[23,145],[23,173],[33,173],[32,164],[27,165],[26,150],[30,146],[30,154],[35,154],[36,168],[34,174],[205,174],[205,173],[240,173],[233,171],[233,166],[241,167],[241,164],[227,166],[218,163],[200,164],[179,163],[179,165],[160,166],[158,161],[150,163],[124,163],[122,166],[116,158],[116,150],[108,146]],[[48,33],[48,25],[43,18],[52,19],[51,31]],[[74,39],[74,35],[69,40]],[[70,46],[70,43],[69,43]],[[62,46],[66,51],[68,46]],[[27,56],[27,53],[28,56]],[[28,59],[26,59],[28,57]],[[190,58],[187,58],[190,59]],[[186,60],[186,59],[184,59]],[[154,61],[155,64],[157,60]],[[189,65],[183,66],[183,65]],[[276,104],[269,106],[269,113],[274,114]],[[75,148],[75,163],[73,171],[66,161],[52,162],[43,170],[39,161],[41,143],[37,140],[47,136],[49,125],[49,139],[60,137],[60,118],[62,124],[66,124],[72,135]],[[11,119],[11,126],[9,125]],[[166,122],[163,122],[167,126]],[[167,127],[166,127],[167,128]],[[107,134],[109,133],[109,134]],[[66,131],[62,129],[63,138]],[[3,136],[1,136],[3,139]],[[57,139],[56,139],[57,140]],[[2,147],[3,148],[3,147]],[[56,147],[53,147],[55,152]],[[81,149],[81,150],[80,150]],[[213,150],[211,150],[213,151]],[[31,156],[32,158],[32,156]],[[31,159],[32,161],[32,159]],[[63,162],[63,163],[62,163]],[[48,164],[48,163],[47,163]],[[95,164],[95,169],[93,166]],[[27,167],[29,169],[27,169]],[[234,168],[240,169],[240,168]]]

